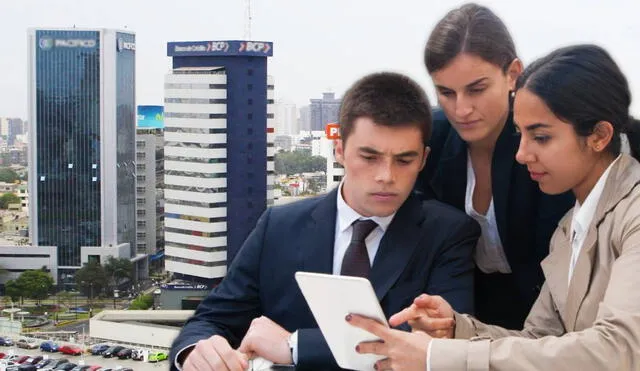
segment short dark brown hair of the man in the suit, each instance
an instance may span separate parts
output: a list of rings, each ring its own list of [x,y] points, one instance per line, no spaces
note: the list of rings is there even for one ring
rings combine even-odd
[[[425,145],[431,138],[431,106],[411,78],[393,72],[367,75],[347,90],[340,105],[340,137],[346,142],[356,119],[368,117],[383,126],[415,126]]]

